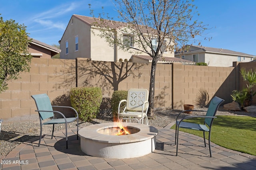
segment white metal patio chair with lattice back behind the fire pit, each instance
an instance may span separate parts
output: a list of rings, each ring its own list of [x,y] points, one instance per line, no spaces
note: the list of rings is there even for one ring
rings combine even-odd
[[[122,102],[126,102],[126,107],[123,111],[120,111]],[[127,100],[121,100],[118,105],[118,121],[123,119],[137,120],[138,123],[144,123],[148,125],[148,90],[147,89],[130,89],[128,90]],[[122,118],[121,118],[122,117]]]

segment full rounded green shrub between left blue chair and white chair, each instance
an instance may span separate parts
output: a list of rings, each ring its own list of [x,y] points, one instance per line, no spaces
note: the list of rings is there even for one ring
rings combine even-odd
[[[99,87],[72,88],[70,91],[71,106],[78,112],[83,121],[96,118],[102,102],[102,90]]]

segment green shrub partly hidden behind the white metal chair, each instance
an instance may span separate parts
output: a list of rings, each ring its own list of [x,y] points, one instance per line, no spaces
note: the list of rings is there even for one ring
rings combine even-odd
[[[128,95],[128,91],[125,90],[117,90],[114,91],[112,94],[112,98],[111,98],[111,109],[112,109],[112,114],[113,117],[117,117],[118,115],[118,105],[120,100],[126,100],[127,99],[127,95]],[[124,107],[126,106],[126,102],[123,102],[120,106],[121,111],[124,109]]]

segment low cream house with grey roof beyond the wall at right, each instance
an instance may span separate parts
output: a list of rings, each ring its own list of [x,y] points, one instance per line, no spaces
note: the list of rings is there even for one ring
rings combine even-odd
[[[175,57],[194,61],[196,63],[206,63],[208,66],[232,66],[234,61],[250,62],[254,55],[240,53],[236,51],[217,49],[211,47],[201,47],[186,45],[183,52],[175,52]]]

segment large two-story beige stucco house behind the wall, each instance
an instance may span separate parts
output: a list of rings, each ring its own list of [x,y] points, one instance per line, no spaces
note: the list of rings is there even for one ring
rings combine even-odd
[[[127,23],[104,20],[108,23],[108,27],[112,29],[115,36],[122,36],[123,43],[129,44],[131,47],[138,46],[134,43],[133,35],[125,33],[123,28]],[[76,59],[89,58],[92,61],[132,61],[132,55],[135,51],[123,51],[116,47],[110,47],[104,38],[98,35],[99,27],[94,24],[100,22],[99,18],[88,16],[73,15],[59,41],[60,59]],[[113,24],[113,22],[115,24]],[[154,39],[154,38],[152,38]],[[157,43],[156,41],[153,41]],[[157,45],[157,44],[155,44]],[[174,57],[174,53],[170,51],[164,52],[164,57]]]

